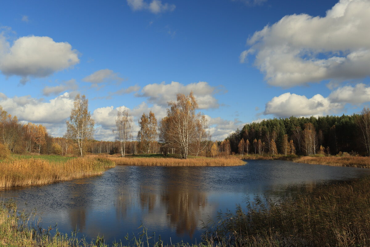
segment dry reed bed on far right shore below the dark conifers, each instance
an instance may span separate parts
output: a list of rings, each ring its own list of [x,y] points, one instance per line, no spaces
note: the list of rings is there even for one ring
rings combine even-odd
[[[293,160],[296,163],[307,163],[327,166],[350,166],[370,168],[370,157],[349,156],[349,157],[310,157],[304,156]]]

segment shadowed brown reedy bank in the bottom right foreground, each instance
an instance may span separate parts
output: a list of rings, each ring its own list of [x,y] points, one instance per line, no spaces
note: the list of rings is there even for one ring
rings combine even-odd
[[[370,178],[256,200],[220,215],[213,239],[233,246],[370,246]]]

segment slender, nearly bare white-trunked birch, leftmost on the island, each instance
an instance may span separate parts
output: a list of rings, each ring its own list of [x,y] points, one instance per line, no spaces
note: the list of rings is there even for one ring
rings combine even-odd
[[[132,136],[132,117],[127,109],[121,107],[117,111],[115,122],[117,127],[115,138],[120,142],[121,156],[125,157],[126,142]]]

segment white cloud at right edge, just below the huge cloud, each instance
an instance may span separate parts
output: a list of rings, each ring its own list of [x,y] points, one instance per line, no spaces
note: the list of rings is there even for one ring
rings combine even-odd
[[[337,103],[361,104],[370,101],[370,87],[359,83],[356,86],[339,87],[329,95],[329,100]]]

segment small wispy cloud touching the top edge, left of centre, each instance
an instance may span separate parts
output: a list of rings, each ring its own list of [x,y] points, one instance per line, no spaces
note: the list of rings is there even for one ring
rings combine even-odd
[[[159,0],[152,0],[150,3],[144,0],[127,0],[127,4],[134,11],[148,10],[154,14],[171,12],[176,8],[175,4],[163,4],[162,1]]]

